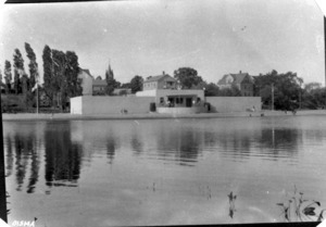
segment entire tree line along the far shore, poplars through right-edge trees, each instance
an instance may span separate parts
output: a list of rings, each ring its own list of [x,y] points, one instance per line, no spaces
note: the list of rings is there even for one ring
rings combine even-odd
[[[24,59],[18,49],[14,50],[13,64],[5,60],[3,80],[0,71],[1,86],[4,92],[24,94],[28,106],[35,106],[35,88],[39,85],[39,71],[36,54],[29,43],[25,42],[28,59],[28,73],[24,68]],[[42,51],[43,85],[39,89],[46,93],[52,108],[61,111],[67,109],[68,99],[82,96],[82,80],[78,79],[80,71],[78,56],[74,51],[63,52],[45,46]],[[13,68],[12,68],[13,67]],[[12,75],[13,70],[13,75]],[[179,67],[174,71],[173,77],[181,89],[203,89],[206,97],[239,97],[239,88],[233,85],[221,89],[215,83],[205,81],[195,68]],[[129,83],[122,84],[114,79],[111,67],[105,72],[105,94],[112,96],[115,88],[129,88],[133,93],[142,90],[145,79],[136,75]],[[253,77],[254,96],[262,97],[264,109],[292,110],[292,109],[319,109],[325,106],[326,92],[321,84],[311,83],[302,87],[303,79],[296,73],[279,74],[273,70],[266,74]],[[272,103],[273,102],[273,103]]]

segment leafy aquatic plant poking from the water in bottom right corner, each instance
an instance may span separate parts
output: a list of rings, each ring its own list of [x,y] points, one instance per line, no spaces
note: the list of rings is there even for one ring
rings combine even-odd
[[[281,207],[281,215],[287,222],[322,222],[324,211],[326,211],[321,207],[321,202],[304,199],[303,192],[298,193],[296,186],[293,196],[289,200],[276,204]]]

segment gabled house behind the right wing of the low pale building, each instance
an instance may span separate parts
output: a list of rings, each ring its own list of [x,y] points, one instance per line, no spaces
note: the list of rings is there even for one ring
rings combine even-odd
[[[241,91],[242,97],[252,97],[254,80],[248,73],[242,73],[240,71],[238,74],[224,75],[223,78],[218,80],[217,86],[220,89],[236,86]]]

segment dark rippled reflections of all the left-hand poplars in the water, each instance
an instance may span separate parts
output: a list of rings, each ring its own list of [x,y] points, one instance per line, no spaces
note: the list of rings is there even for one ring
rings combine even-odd
[[[40,150],[37,144],[45,144],[45,175],[47,186],[72,186],[80,174],[82,147],[72,142],[68,123],[43,123],[43,141],[37,139],[38,125],[27,125],[21,130],[5,135],[7,176],[14,168],[16,190],[21,191],[25,180],[27,193],[33,193],[39,180]],[[17,126],[18,127],[18,126]],[[29,174],[29,176],[27,176]]]

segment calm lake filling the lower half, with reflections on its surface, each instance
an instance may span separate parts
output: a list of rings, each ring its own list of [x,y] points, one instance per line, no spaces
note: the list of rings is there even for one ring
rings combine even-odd
[[[300,193],[326,209],[325,116],[3,122],[3,137],[9,224],[285,222],[277,203]]]

